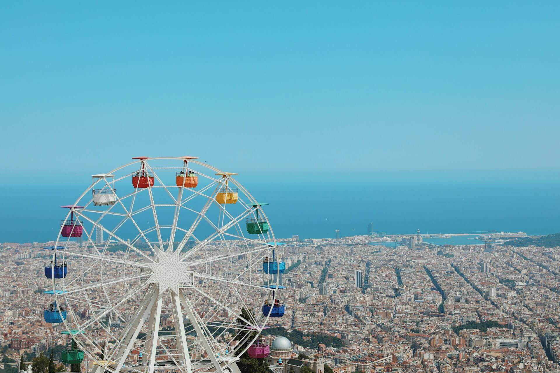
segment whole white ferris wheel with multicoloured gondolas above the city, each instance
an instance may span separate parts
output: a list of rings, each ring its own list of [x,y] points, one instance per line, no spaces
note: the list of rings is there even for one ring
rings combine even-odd
[[[245,352],[268,356],[259,334],[284,314],[286,265],[267,204],[196,157],[133,159],[62,206],[45,248],[44,317],[72,343],[63,362],[87,357],[100,373],[231,372]]]

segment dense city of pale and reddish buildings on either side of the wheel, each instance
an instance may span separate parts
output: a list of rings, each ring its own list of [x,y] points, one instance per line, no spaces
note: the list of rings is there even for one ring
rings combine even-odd
[[[263,331],[264,363],[281,358],[295,373],[560,372],[560,248],[507,241],[524,234],[435,245],[419,232],[369,233],[281,239],[286,314]],[[52,244],[1,246],[3,372],[51,351],[56,370],[69,371],[60,351],[71,337],[43,319]],[[86,357],[81,370],[92,367]]]

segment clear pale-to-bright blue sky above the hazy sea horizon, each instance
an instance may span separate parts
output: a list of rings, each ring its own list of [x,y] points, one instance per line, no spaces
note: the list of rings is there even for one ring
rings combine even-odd
[[[2,2],[2,177],[560,171],[558,1]]]

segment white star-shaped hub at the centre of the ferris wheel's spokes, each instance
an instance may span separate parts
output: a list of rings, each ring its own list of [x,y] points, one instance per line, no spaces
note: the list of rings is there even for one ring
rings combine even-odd
[[[148,282],[157,284],[160,294],[167,289],[178,294],[181,284],[192,282],[192,273],[187,271],[189,265],[188,262],[179,261],[178,253],[161,252],[156,262],[147,263],[152,271]]]

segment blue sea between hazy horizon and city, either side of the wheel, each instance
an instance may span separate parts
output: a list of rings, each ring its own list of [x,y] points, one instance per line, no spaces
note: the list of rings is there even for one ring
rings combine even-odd
[[[303,180],[301,180],[303,179]],[[560,232],[558,180],[414,180],[403,175],[375,180],[339,178],[248,178],[243,185],[265,212],[277,238],[366,234],[368,223],[387,234]],[[64,211],[87,183],[14,183],[0,187],[0,242],[55,239]],[[450,243],[451,243],[450,239]],[[474,241],[472,242],[474,243]]]

